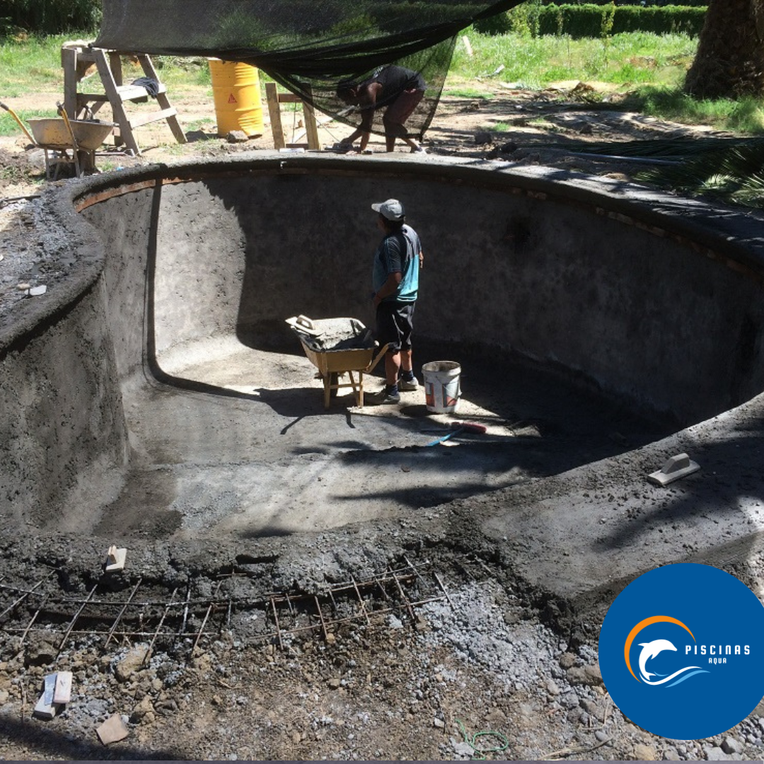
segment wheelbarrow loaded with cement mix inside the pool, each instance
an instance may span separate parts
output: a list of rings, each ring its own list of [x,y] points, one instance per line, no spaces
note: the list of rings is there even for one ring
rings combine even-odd
[[[364,374],[368,374],[384,358],[387,348],[380,348],[371,331],[358,319],[319,319],[293,316],[286,319],[303,345],[308,360],[319,370],[324,383],[324,408],[337,390],[352,387],[359,407],[364,405]],[[349,382],[340,377],[348,374]],[[358,374],[358,380],[354,377]]]

